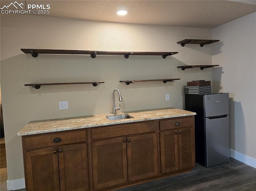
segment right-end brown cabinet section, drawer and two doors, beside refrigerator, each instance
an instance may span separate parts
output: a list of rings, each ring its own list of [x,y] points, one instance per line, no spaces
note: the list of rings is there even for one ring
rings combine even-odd
[[[192,117],[160,121],[160,130],[165,130],[160,132],[161,173],[195,166],[193,121]]]

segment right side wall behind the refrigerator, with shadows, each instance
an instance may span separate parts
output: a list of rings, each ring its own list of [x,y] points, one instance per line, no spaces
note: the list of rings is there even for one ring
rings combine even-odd
[[[256,159],[256,13],[212,30],[216,92],[230,93],[230,147]]]

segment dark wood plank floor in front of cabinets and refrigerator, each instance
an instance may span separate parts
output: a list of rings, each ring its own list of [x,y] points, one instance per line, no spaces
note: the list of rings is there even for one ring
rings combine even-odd
[[[256,191],[256,169],[230,158],[215,167],[196,167],[189,173],[116,191]]]

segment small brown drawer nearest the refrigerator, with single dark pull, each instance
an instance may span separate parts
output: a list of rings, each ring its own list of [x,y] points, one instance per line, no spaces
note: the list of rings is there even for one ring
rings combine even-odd
[[[160,121],[160,131],[194,126],[194,116]]]

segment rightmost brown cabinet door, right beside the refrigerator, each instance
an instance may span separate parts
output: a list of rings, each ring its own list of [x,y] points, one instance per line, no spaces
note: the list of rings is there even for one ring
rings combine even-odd
[[[186,169],[196,165],[194,137],[194,128],[178,129],[179,169]]]

